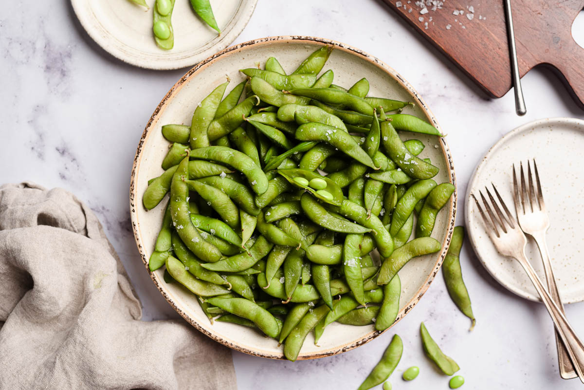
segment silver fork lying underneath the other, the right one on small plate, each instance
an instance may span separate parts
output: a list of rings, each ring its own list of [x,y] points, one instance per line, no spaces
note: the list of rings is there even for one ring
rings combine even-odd
[[[544,264],[545,280],[547,281],[548,292],[553,298],[558,308],[564,312],[564,305],[559,297],[558,285],[555,282],[554,271],[551,266],[550,253],[548,252],[545,232],[550,227],[550,218],[545,210],[543,192],[541,191],[540,175],[537,172],[536,160],[533,160],[533,169],[536,176],[537,191],[533,186],[531,175],[531,164],[527,162],[527,182],[529,189],[525,184],[525,175],[523,174],[523,163],[520,163],[521,188],[517,185],[517,176],[515,173],[515,164],[513,164],[513,200],[515,200],[515,211],[517,212],[517,222],[523,232],[529,234],[537,243],[540,249],[541,260]],[[572,362],[569,359],[568,351],[558,333],[555,335],[555,343],[558,347],[559,374],[564,379],[575,378],[576,372]]]

